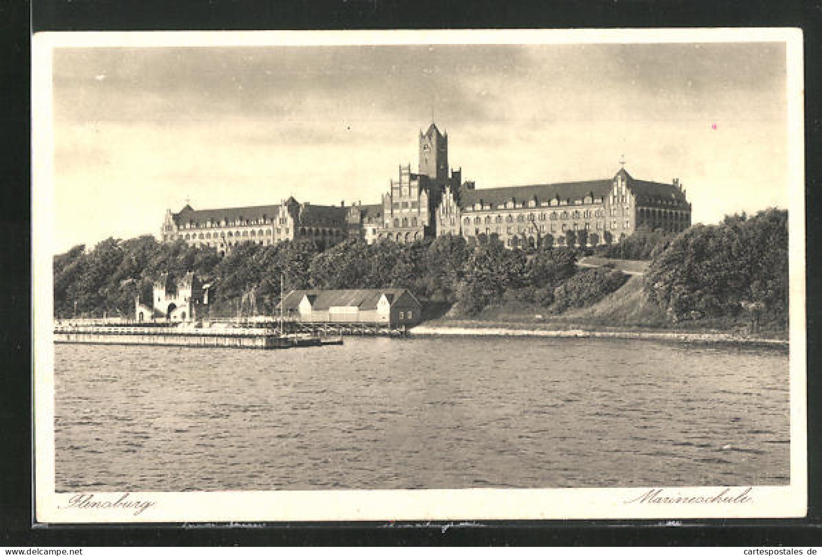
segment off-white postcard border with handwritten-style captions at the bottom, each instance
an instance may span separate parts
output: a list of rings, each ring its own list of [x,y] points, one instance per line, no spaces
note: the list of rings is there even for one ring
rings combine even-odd
[[[791,481],[689,488],[55,493],[51,56],[59,47],[521,43],[787,44]],[[797,29],[39,33],[32,52],[35,520],[43,523],[803,517],[807,506],[804,121]]]

